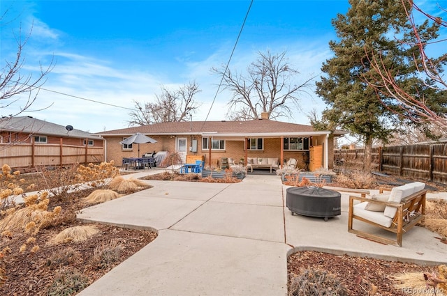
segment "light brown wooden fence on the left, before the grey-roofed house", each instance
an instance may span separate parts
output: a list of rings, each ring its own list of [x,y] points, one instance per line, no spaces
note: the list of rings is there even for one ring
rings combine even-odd
[[[0,143],[0,165],[8,164],[13,169],[32,169],[39,166],[70,166],[103,162],[104,148],[32,143]]]

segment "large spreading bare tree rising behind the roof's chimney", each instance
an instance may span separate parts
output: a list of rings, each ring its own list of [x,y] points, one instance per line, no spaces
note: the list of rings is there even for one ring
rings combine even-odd
[[[300,107],[298,93],[307,93],[309,82],[315,77],[293,84],[299,72],[286,61],[286,52],[258,54],[258,60],[249,65],[246,75],[225,67],[212,68],[212,72],[223,77],[225,89],[233,93],[227,116],[233,120],[257,119],[266,112],[269,118],[290,117],[289,103]]]

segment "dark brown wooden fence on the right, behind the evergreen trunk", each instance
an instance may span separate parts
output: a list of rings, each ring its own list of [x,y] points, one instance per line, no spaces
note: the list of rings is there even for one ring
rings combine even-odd
[[[358,169],[365,148],[334,150],[335,169]],[[373,171],[407,178],[447,183],[447,143],[372,148]]]

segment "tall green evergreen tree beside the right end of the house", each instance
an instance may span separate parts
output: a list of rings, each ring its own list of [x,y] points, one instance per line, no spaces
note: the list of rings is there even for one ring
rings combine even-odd
[[[369,86],[379,81],[370,66],[369,56],[380,52],[381,59],[407,91],[427,90],[417,77],[413,56],[417,47],[405,42],[411,37],[411,24],[403,3],[395,0],[349,0],[346,15],[337,15],[332,25],[339,40],[330,41],[334,57],[323,63],[325,76],[316,83],[316,93],[328,104],[322,120],[328,126],[341,127],[365,143],[365,170],[371,164],[374,139],[386,142],[395,132],[400,118],[395,115],[391,100]],[[411,7],[406,3],[407,9]],[[427,23],[418,28],[425,40],[437,37],[437,27]],[[416,55],[417,56],[417,55]],[[389,104],[388,104],[389,103]]]

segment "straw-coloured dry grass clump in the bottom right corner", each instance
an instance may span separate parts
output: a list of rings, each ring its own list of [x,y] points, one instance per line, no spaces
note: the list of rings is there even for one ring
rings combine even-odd
[[[395,281],[395,288],[406,292],[409,295],[423,296],[423,295],[447,295],[447,267],[446,265],[439,265],[437,272],[432,272],[437,279],[444,281],[436,286],[436,293],[434,288],[429,285],[423,272],[406,272],[402,274],[395,274],[393,279]],[[425,273],[427,274],[427,273]]]

